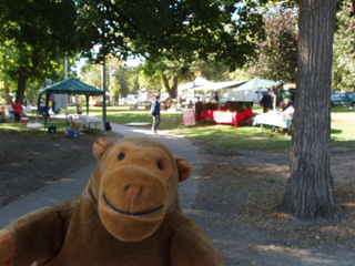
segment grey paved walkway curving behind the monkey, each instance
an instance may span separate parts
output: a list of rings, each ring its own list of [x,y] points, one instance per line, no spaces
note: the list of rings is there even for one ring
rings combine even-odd
[[[201,166],[197,150],[190,141],[182,136],[173,135],[165,131],[158,131],[158,134],[151,130],[125,126],[121,124],[111,124],[112,131],[122,136],[148,136],[155,139],[165,144],[176,156],[186,158],[192,165],[192,175],[184,182],[180,183],[180,198],[184,209],[191,208],[197,195],[197,178]],[[0,228],[8,225],[12,221],[34,209],[54,205],[68,201],[79,195],[85,186],[95,167],[95,163],[87,166],[62,178],[51,185],[44,186],[34,193],[8,204],[0,208]]]

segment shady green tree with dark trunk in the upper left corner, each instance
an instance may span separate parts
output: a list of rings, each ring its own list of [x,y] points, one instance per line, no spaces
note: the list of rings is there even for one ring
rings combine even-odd
[[[17,54],[9,73],[21,102],[29,78],[44,78],[52,61],[77,50],[77,10],[72,0],[1,1],[0,10],[0,41]]]

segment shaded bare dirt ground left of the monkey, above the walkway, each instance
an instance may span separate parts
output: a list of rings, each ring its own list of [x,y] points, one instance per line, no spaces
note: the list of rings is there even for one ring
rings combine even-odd
[[[80,137],[0,131],[0,207],[95,162],[91,146],[99,136],[90,131]]]

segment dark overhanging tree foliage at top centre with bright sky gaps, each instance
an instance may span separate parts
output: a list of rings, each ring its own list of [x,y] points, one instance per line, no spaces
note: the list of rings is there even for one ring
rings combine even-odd
[[[78,6],[98,27],[94,44],[101,58],[109,52],[145,57],[173,98],[179,76],[197,58],[230,69],[243,65],[262,23],[257,2],[244,0],[78,0]],[[87,54],[94,57],[93,51]]]

